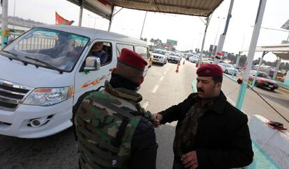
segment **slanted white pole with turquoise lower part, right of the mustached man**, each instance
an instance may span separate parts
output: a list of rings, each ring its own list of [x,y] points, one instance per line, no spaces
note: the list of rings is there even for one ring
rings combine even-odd
[[[252,34],[252,38],[251,38],[251,44],[250,44],[250,48],[249,48],[249,52],[248,52],[246,70],[245,70],[243,82],[242,82],[242,85],[240,86],[239,94],[237,97],[236,107],[239,110],[241,110],[242,106],[243,106],[244,97],[246,94],[246,88],[248,85],[249,74],[251,72],[251,67],[252,67],[255,49],[257,46],[258,38],[259,38],[259,33],[260,33],[262,19],[263,19],[263,15],[264,15],[264,11],[265,11],[266,2],[267,2],[267,0],[260,0],[257,16],[255,19],[255,26],[254,26],[254,30],[253,30],[253,34]]]

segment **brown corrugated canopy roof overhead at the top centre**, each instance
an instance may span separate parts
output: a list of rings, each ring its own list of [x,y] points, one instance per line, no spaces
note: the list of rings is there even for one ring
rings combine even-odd
[[[81,0],[67,0],[80,6]],[[208,17],[223,0],[83,0],[84,8],[107,19],[112,16],[112,7],[120,6],[135,10],[159,13],[175,13]],[[111,9],[111,11],[108,11]]]

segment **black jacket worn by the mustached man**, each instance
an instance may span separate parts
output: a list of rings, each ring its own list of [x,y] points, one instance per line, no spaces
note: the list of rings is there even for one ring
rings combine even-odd
[[[179,127],[186,111],[195,104],[197,97],[197,93],[192,93],[184,102],[161,111],[162,124],[178,120]],[[247,116],[228,103],[221,92],[198,122],[195,151],[199,168],[248,166],[253,161],[253,150],[247,122]],[[193,150],[187,150],[191,151]]]

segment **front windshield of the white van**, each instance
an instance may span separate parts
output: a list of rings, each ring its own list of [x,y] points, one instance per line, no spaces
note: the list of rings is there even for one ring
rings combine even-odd
[[[21,61],[71,72],[89,38],[53,29],[34,28],[3,49]],[[45,64],[47,63],[47,64]],[[47,66],[50,65],[50,66]]]

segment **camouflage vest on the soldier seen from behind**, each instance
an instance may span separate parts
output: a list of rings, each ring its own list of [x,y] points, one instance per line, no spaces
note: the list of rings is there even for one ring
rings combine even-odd
[[[75,115],[82,168],[127,168],[131,140],[140,118],[151,117],[141,108],[142,96],[125,88],[92,92]]]

